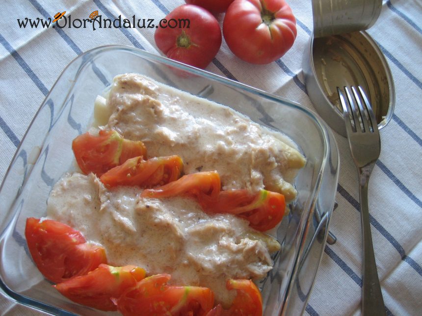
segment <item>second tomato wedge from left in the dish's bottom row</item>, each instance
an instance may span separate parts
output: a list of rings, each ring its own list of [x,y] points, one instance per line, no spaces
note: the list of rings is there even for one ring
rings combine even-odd
[[[77,276],[54,287],[70,300],[102,311],[117,311],[112,298],[145,278],[145,270],[135,266],[111,267],[101,264],[86,275]]]

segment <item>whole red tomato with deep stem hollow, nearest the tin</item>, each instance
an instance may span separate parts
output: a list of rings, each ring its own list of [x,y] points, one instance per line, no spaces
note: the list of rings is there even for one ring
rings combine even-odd
[[[296,19],[285,0],[235,0],[224,17],[223,34],[237,57],[268,64],[293,45]]]

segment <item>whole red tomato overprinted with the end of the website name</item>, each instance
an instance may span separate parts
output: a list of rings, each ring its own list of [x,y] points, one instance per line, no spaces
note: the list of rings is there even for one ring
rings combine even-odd
[[[185,27],[171,27],[185,19]],[[187,20],[186,20],[187,19]],[[221,46],[221,30],[218,21],[204,8],[184,4],[160,22],[154,38],[158,49],[167,57],[182,63],[205,68],[215,57]],[[165,27],[166,26],[166,27]]]

